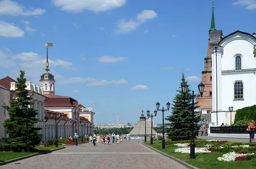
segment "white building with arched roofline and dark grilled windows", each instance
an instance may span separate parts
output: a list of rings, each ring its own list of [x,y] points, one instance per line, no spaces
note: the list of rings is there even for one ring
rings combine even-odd
[[[210,46],[212,122],[214,126],[230,125],[229,107],[234,107],[233,122],[237,109],[256,104],[256,59],[253,57],[256,34],[236,31],[224,37],[221,30],[212,31]]]

